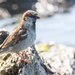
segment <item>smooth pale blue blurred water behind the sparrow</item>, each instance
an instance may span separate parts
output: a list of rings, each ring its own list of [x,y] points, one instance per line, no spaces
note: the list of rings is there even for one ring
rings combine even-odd
[[[8,21],[9,19],[6,22]],[[0,23],[3,25],[5,22]],[[75,46],[75,6],[70,8],[70,13],[55,14],[53,17],[37,20],[36,24],[36,41],[56,41]],[[13,24],[5,28],[11,32],[15,26]]]

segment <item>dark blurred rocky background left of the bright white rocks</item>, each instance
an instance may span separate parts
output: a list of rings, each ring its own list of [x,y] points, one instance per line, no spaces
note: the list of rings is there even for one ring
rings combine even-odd
[[[35,3],[36,0],[0,0],[0,13],[5,13],[6,17],[10,17],[34,8]],[[1,16],[5,18],[5,15]]]

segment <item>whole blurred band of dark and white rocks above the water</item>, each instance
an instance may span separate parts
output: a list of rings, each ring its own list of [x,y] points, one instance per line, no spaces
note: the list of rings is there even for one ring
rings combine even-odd
[[[66,12],[74,0],[0,0],[0,18],[11,17],[28,9],[36,10],[40,16],[51,16],[56,12]]]

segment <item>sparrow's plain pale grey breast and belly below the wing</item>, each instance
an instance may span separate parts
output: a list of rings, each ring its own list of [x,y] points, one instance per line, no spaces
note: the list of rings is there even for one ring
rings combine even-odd
[[[35,32],[33,30],[28,30],[27,31],[27,38],[25,38],[20,43],[16,44],[13,47],[13,50],[15,50],[16,52],[20,52],[21,50],[28,48],[29,46],[33,45],[35,39],[36,39]]]

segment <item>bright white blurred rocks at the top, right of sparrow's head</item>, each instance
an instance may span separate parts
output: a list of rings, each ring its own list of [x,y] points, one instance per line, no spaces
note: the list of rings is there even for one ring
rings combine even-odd
[[[57,12],[67,12],[74,2],[72,0],[38,0],[35,7],[41,16],[46,17]]]

